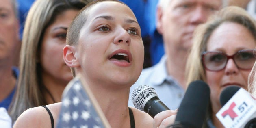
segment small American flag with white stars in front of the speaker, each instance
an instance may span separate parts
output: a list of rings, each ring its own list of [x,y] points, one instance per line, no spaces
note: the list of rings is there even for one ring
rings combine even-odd
[[[110,128],[80,75],[69,82],[63,92],[57,128]]]

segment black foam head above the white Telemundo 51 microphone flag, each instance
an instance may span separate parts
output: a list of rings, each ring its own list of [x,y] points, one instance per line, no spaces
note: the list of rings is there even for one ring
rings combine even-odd
[[[226,87],[222,92],[219,97],[219,101],[221,103],[221,106],[224,106],[230,98],[233,97],[233,95],[240,89],[238,86],[228,86]]]

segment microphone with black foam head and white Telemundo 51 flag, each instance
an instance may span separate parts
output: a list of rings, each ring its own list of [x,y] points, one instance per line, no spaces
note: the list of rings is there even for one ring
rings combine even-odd
[[[238,86],[226,87],[220,95],[217,118],[225,128],[256,128],[256,99]]]

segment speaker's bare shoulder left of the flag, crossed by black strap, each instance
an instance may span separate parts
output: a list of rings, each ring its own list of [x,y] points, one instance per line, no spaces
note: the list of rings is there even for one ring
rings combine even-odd
[[[54,118],[58,119],[61,103],[47,105]],[[24,111],[15,122],[13,128],[51,128],[51,120],[46,108],[39,106]]]

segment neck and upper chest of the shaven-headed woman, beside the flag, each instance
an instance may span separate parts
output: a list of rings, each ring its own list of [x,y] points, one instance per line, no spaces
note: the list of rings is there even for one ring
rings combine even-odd
[[[99,89],[93,86],[90,89],[112,128],[128,128],[130,126],[129,88],[115,90],[111,88]]]

